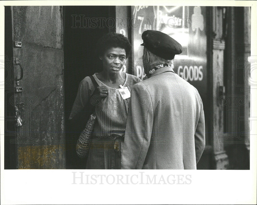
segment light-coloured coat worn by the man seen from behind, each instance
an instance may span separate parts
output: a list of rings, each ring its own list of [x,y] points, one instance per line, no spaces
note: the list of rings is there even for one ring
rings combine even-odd
[[[171,67],[132,86],[122,169],[196,169],[205,147],[203,103]]]

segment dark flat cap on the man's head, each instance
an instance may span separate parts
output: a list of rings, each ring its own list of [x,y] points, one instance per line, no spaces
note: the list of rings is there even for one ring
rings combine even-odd
[[[142,46],[166,60],[172,60],[176,54],[182,53],[182,46],[169,35],[160,31],[144,31],[142,39],[144,41]]]

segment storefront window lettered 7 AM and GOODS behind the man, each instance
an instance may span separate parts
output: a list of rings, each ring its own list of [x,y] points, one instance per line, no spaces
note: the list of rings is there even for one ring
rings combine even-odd
[[[194,85],[202,98],[207,92],[207,39],[205,7],[200,6],[132,6],[132,42],[134,75],[145,76],[141,35],[146,30],[168,34],[183,48],[174,59],[174,71]],[[203,99],[204,100],[204,99]]]

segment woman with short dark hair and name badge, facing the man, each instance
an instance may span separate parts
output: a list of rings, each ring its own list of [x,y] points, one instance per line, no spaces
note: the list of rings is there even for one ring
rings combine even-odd
[[[124,95],[122,92],[124,90],[121,89],[127,87],[130,91],[130,86],[140,82],[140,79],[121,72],[126,56],[131,52],[131,44],[122,34],[104,35],[97,42],[96,50],[102,61],[103,70],[95,73],[93,77],[99,85],[97,95],[101,96],[102,103],[95,107],[96,123],[86,169],[120,169],[126,116],[130,102],[130,97]],[[94,84],[89,76],[80,82],[70,119],[90,103],[89,98],[94,90]]]

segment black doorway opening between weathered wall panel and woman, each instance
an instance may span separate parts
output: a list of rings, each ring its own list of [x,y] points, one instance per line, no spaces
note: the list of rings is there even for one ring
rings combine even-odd
[[[79,159],[75,149],[79,134],[74,132],[68,119],[80,81],[100,71],[94,54],[95,43],[115,28],[101,26],[98,19],[115,18],[115,6],[64,6],[63,14],[66,168],[83,169],[85,159]],[[88,24],[92,18],[97,26]]]

